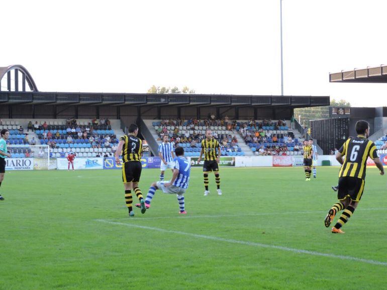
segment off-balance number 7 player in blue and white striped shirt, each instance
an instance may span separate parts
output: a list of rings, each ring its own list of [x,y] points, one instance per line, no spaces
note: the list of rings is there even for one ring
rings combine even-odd
[[[189,184],[191,164],[185,159],[184,149],[182,147],[177,147],[175,153],[176,157],[173,160],[174,167],[172,179],[170,181],[158,181],[152,183],[145,199],[145,206],[147,209],[150,207],[150,203],[156,190],[161,189],[164,193],[176,194],[180,209],[179,213],[186,214],[184,207],[184,193]],[[140,204],[138,203],[136,206],[140,207]]]

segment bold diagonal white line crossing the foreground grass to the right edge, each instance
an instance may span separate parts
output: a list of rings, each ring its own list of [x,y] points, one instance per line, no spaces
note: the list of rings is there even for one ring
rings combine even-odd
[[[123,225],[123,226],[127,226],[127,227],[153,230],[153,231],[158,231],[158,232],[163,232],[163,233],[172,233],[172,234],[179,234],[179,235],[191,236],[191,237],[214,240],[214,241],[228,242],[228,243],[233,243],[233,244],[242,244],[242,245],[248,245],[248,246],[254,246],[254,247],[277,249],[277,250],[288,251],[288,252],[293,252],[293,253],[297,253],[297,254],[308,254],[308,255],[313,255],[313,256],[323,256],[323,257],[328,257],[328,258],[337,258],[337,259],[341,259],[341,260],[351,260],[351,261],[363,262],[363,263],[367,263],[367,264],[387,266],[387,262],[380,262],[380,261],[376,261],[376,260],[368,260],[368,259],[356,258],[356,257],[351,257],[351,256],[335,255],[335,254],[329,254],[329,253],[320,253],[320,252],[315,252],[315,251],[308,251],[308,250],[302,250],[302,249],[296,249],[296,248],[261,244],[261,243],[256,243],[256,242],[239,241],[239,240],[225,239],[225,238],[219,238],[219,237],[214,237],[214,236],[198,235],[198,234],[192,234],[192,233],[186,233],[186,232],[180,232],[180,231],[165,230],[165,229],[161,229],[161,228],[134,225],[134,224],[129,224],[129,223],[112,222],[112,221],[103,220],[103,219],[97,219],[95,221],[108,223],[108,224],[114,224],[114,225]]]

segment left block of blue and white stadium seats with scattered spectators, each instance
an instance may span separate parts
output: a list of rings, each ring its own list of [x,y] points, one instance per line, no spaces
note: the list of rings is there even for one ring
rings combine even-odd
[[[30,140],[34,138],[36,145],[50,146],[50,157],[65,158],[70,151],[75,152],[77,157],[113,157],[118,138],[124,132],[118,125],[119,120],[101,120],[6,119],[2,120],[0,128],[10,130],[10,145],[30,144]],[[25,127],[29,128],[24,129],[23,133],[19,131],[21,123],[25,123]],[[28,148],[13,148],[11,154],[15,158],[33,157]]]

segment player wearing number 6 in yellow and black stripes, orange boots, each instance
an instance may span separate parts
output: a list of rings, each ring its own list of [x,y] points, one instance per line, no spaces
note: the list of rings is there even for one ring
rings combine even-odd
[[[341,164],[339,171],[339,190],[335,203],[325,217],[324,223],[329,227],[335,215],[344,210],[336,225],[332,228],[332,233],[344,233],[341,227],[348,221],[355,211],[364,190],[365,169],[367,159],[370,157],[380,170],[380,175],[384,174],[383,165],[376,153],[376,146],[368,140],[369,124],[367,121],[356,122],[355,129],[357,137],[348,138],[336,155],[336,159]],[[344,160],[343,160],[344,157]]]

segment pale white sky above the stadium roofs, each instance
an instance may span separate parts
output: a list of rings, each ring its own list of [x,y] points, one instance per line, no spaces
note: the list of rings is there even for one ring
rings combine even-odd
[[[385,106],[387,84],[329,72],[387,64],[384,0],[283,0],[285,95]],[[278,95],[279,0],[4,1],[0,66],[40,91]]]

